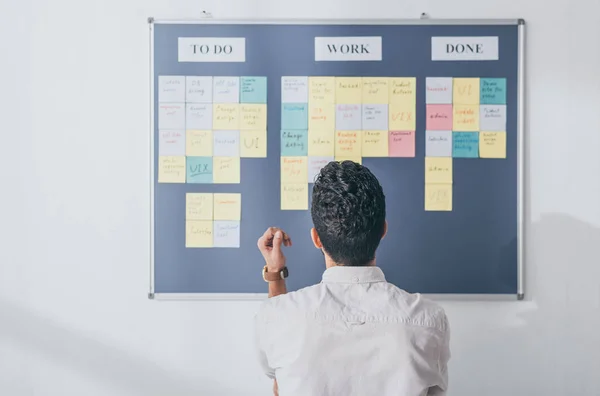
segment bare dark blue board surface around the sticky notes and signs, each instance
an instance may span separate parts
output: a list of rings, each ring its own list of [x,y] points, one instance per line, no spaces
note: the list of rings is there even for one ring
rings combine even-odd
[[[387,237],[377,264],[410,291],[517,293],[517,25],[154,24],[154,85],[159,75],[266,76],[267,158],[242,158],[240,184],[159,184],[158,100],[154,98],[154,292],[264,293],[257,238],[285,229],[288,289],[318,283],[323,256],[312,246],[310,211],[280,211],[282,76],[416,77],[415,158],[364,158],[387,197]],[[179,63],[179,37],[245,37],[244,63]],[[315,36],[382,36],[378,62],[315,62]],[[498,36],[499,60],[431,61],[432,36]],[[507,158],[453,159],[453,211],[424,211],[425,78],[506,78]],[[312,184],[310,185],[310,188]],[[185,194],[242,194],[240,248],[186,249]]]

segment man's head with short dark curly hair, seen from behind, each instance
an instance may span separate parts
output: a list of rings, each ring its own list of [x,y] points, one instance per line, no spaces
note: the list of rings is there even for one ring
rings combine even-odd
[[[385,195],[377,178],[352,161],[330,162],[312,195],[313,242],[337,265],[364,266],[387,231]]]

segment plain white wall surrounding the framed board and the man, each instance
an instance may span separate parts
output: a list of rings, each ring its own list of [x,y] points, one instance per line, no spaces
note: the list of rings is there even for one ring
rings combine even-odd
[[[444,304],[450,394],[600,395],[598,0],[3,1],[1,395],[269,394],[252,354],[257,303],[146,298],[145,21],[202,7],[525,18],[529,300]]]

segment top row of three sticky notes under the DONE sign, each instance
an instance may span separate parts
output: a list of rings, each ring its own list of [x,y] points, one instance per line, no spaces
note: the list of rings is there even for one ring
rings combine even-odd
[[[506,104],[505,78],[428,77],[425,91],[427,104]]]

